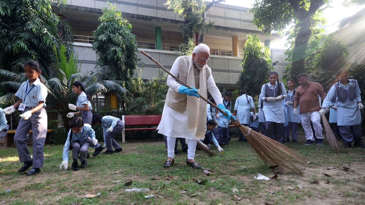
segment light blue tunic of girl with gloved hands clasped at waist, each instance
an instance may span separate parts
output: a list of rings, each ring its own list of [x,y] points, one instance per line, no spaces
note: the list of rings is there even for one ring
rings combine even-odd
[[[277,87],[277,82],[275,82],[275,85],[272,86],[270,82],[267,83],[269,88],[272,90],[275,90]],[[282,95],[284,96],[284,99],[288,96],[287,92],[285,90],[285,86],[282,82],[280,82],[280,88],[281,91],[278,90],[278,96]],[[274,92],[275,93],[275,92]],[[261,87],[261,101],[265,101],[266,98],[266,89],[265,84]],[[278,97],[274,96],[274,97]],[[283,100],[277,100],[277,101],[265,101],[265,105],[262,108],[264,110],[265,114],[265,120],[271,121],[274,123],[285,123],[285,114],[283,109]]]

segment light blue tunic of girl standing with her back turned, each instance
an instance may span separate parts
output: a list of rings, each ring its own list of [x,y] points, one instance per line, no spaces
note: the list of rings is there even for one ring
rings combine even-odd
[[[251,96],[243,94],[236,99],[234,110],[237,110],[237,117],[241,124],[250,123],[250,111],[254,108],[255,104]]]

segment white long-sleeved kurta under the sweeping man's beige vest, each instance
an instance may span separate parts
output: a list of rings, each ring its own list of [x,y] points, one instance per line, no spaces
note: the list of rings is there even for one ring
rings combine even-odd
[[[171,67],[170,73],[172,73],[174,76],[178,76],[178,58],[174,62],[174,64]],[[186,68],[188,69],[188,67]],[[171,76],[167,78],[166,83],[170,88],[172,88],[175,92],[178,92],[180,88],[180,84]],[[207,90],[210,92],[210,94],[213,96],[215,102],[217,105],[222,104],[222,96],[219,92],[219,89],[215,85],[213,76],[207,76]],[[201,100],[201,99],[200,99]],[[186,139],[192,139],[197,140],[195,138],[195,133],[188,131],[188,111],[187,108],[185,108],[184,113],[180,113],[177,111],[174,111],[173,109],[169,108],[166,104],[164,106],[164,111],[162,112],[162,117],[160,124],[157,127],[158,133],[162,135],[166,135],[168,137],[173,138],[186,138]],[[204,138],[204,136],[203,136]]]

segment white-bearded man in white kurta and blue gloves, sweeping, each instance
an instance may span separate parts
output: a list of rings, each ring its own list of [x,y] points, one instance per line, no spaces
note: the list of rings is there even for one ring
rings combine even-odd
[[[178,57],[170,72],[181,81],[188,84],[192,89],[180,85],[173,77],[167,78],[169,90],[166,95],[164,111],[161,122],[158,125],[158,133],[167,136],[167,161],[164,167],[174,164],[175,138],[188,139],[188,158],[186,164],[200,169],[201,166],[195,162],[195,148],[197,140],[204,139],[205,127],[207,123],[207,103],[199,100],[201,96],[207,97],[207,90],[218,104],[218,107],[228,114],[222,102],[222,96],[215,85],[212,71],[208,67],[210,49],[201,43],[196,46],[191,56]]]

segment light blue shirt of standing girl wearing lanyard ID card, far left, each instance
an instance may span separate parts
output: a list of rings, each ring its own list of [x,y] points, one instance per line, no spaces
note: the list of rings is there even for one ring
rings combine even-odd
[[[43,101],[43,108],[45,108],[47,94],[46,86],[38,78],[30,86],[29,80],[23,82],[15,96],[22,99],[27,107],[36,107],[39,101]]]

